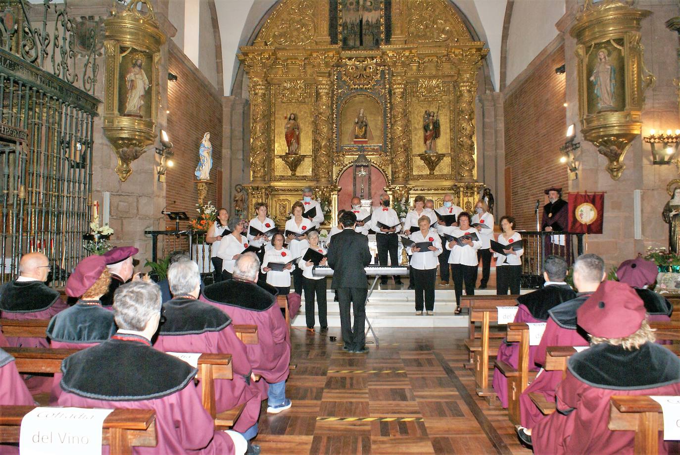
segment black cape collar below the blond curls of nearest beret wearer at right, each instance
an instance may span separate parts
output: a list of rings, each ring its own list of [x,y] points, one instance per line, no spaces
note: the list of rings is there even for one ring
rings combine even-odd
[[[632,351],[596,344],[571,356],[568,369],[577,380],[596,388],[640,390],[680,382],[678,356],[649,342]]]

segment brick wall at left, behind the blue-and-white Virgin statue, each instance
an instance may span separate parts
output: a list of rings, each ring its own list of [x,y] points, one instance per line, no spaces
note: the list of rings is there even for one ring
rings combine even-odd
[[[177,46],[169,46],[169,71],[177,75],[176,82],[168,82],[167,107],[167,131],[173,142],[175,165],[166,173],[165,200],[169,210],[186,212],[194,218],[198,202],[194,171],[206,132],[210,133],[213,147],[213,184],[208,187],[205,202],[212,201],[218,208],[223,203],[221,182],[218,183],[218,171],[222,170],[222,97]],[[175,223],[168,221],[167,226],[174,227]]]

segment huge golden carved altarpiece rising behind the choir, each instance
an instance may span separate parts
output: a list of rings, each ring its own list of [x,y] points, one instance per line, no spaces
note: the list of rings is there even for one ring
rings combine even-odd
[[[337,212],[363,152],[394,199],[472,209],[477,73],[488,50],[445,0],[284,0],[239,59],[250,90],[249,215],[283,223],[301,190]],[[342,207],[340,207],[342,208]]]

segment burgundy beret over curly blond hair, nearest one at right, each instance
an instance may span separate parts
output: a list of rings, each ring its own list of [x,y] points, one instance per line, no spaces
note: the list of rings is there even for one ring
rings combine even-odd
[[[605,281],[576,311],[576,320],[594,337],[623,338],[645,319],[645,304],[628,284]]]

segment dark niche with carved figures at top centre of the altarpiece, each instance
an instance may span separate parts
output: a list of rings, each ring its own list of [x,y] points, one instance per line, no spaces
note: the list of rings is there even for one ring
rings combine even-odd
[[[340,0],[342,46],[380,46],[381,0]]]

